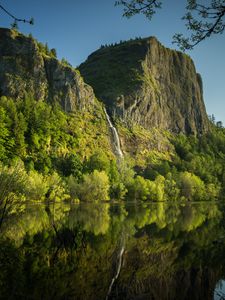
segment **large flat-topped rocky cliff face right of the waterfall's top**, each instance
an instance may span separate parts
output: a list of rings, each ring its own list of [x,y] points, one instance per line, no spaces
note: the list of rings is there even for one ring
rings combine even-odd
[[[154,37],[102,47],[79,70],[111,114],[127,124],[185,134],[208,130],[193,61]]]

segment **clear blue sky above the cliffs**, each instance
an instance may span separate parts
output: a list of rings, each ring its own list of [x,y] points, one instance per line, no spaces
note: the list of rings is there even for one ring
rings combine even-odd
[[[0,0],[17,17],[35,20],[34,26],[19,24],[21,32],[56,48],[59,58],[79,65],[100,47],[136,36],[156,36],[169,48],[176,32],[185,33],[181,17],[185,0],[165,1],[150,22],[144,16],[122,17],[122,8],[114,0]],[[9,27],[11,19],[0,11],[0,27]],[[204,85],[208,114],[225,125],[225,32],[199,44],[188,54],[194,60]]]

